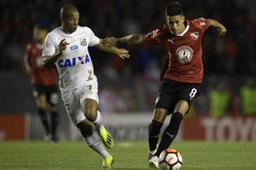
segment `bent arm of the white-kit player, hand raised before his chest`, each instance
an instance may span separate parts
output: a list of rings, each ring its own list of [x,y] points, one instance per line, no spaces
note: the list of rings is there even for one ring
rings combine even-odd
[[[61,57],[61,55],[66,50],[67,45],[69,45],[69,43],[65,42],[65,39],[61,40],[61,42],[59,43],[59,52],[57,52],[54,55],[43,56],[42,65],[44,67],[54,65],[55,62],[57,62],[57,60],[59,59],[59,57]]]

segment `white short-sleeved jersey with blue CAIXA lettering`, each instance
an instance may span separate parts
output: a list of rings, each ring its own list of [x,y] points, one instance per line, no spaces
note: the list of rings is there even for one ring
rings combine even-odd
[[[59,43],[64,38],[69,45],[55,63],[59,72],[61,91],[71,91],[90,81],[96,81],[88,46],[98,44],[100,39],[86,26],[78,26],[71,34],[64,33],[61,27],[55,28],[46,37],[43,56],[58,52]]]

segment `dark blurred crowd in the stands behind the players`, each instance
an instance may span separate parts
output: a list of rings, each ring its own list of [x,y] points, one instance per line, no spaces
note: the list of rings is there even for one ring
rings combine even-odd
[[[204,34],[204,88],[190,113],[214,116],[256,114],[256,1],[179,2],[187,20],[212,18],[227,29],[225,37],[219,37],[214,28],[209,28]],[[160,28],[165,24],[165,6],[170,1],[1,0],[1,75],[9,72],[25,75],[25,47],[33,40],[33,26],[41,23],[49,30],[60,26],[60,9],[69,3],[78,7],[80,26],[88,26],[97,37],[105,38],[146,34]],[[120,113],[153,111],[166,49],[151,45],[123,48],[129,50],[129,60],[89,48],[99,82],[100,109]],[[9,92],[1,89],[1,93]],[[33,101],[30,91],[27,98]]]

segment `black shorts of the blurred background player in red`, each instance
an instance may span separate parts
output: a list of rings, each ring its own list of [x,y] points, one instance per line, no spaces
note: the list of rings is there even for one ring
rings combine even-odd
[[[57,85],[52,86],[42,86],[42,85],[33,85],[33,96],[38,98],[38,96],[45,94],[47,103],[50,105],[57,105],[58,103],[58,93]]]

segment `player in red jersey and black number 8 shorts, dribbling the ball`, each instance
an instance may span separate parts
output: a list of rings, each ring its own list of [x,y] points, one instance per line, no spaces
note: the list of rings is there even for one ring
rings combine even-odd
[[[199,18],[185,20],[182,5],[173,2],[166,6],[166,24],[146,35],[134,34],[123,38],[110,38],[112,45],[127,43],[152,43],[162,45],[168,51],[161,72],[161,86],[154,116],[149,124],[148,166],[158,167],[158,157],[175,139],[183,116],[189,111],[194,99],[202,88],[202,37],[204,31],[214,26],[219,35],[226,33],[226,28],[216,20]],[[158,145],[158,135],[167,115],[171,115]]]

